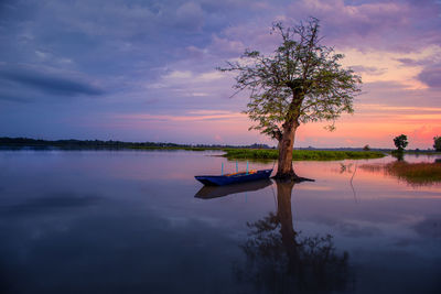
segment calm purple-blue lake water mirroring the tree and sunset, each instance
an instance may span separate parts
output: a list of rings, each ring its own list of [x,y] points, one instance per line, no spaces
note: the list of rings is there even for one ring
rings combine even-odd
[[[386,157],[201,189],[213,154],[1,151],[0,293],[441,293],[441,185]]]

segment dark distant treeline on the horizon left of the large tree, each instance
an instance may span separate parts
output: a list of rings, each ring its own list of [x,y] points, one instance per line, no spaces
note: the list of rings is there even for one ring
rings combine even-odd
[[[41,140],[30,138],[0,138],[1,148],[56,148],[56,149],[185,149],[185,150],[209,150],[209,149],[271,149],[267,144],[251,145],[219,145],[219,144],[176,144],[162,142],[122,142],[101,140]]]

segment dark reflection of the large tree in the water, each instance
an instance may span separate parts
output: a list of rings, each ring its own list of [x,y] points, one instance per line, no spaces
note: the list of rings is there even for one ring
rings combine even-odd
[[[277,214],[247,224],[249,239],[241,246],[247,264],[237,270],[237,279],[269,293],[344,291],[348,254],[335,252],[331,235],[301,237],[292,224],[294,183],[276,183]]]

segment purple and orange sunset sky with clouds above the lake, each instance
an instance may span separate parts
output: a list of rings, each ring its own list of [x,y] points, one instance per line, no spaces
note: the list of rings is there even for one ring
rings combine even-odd
[[[189,144],[276,142],[248,131],[248,92],[215,68],[270,54],[276,21],[321,21],[323,44],[362,76],[336,130],[294,146],[428,149],[441,135],[441,1],[1,0],[0,137]]]

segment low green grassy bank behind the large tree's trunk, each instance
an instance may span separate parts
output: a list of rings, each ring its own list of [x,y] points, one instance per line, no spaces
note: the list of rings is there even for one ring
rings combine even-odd
[[[277,160],[278,150],[252,150],[252,149],[226,149],[224,155],[230,160]],[[385,153],[376,151],[321,151],[321,150],[294,150],[292,159],[294,161],[340,161],[340,160],[362,160],[379,159]]]

